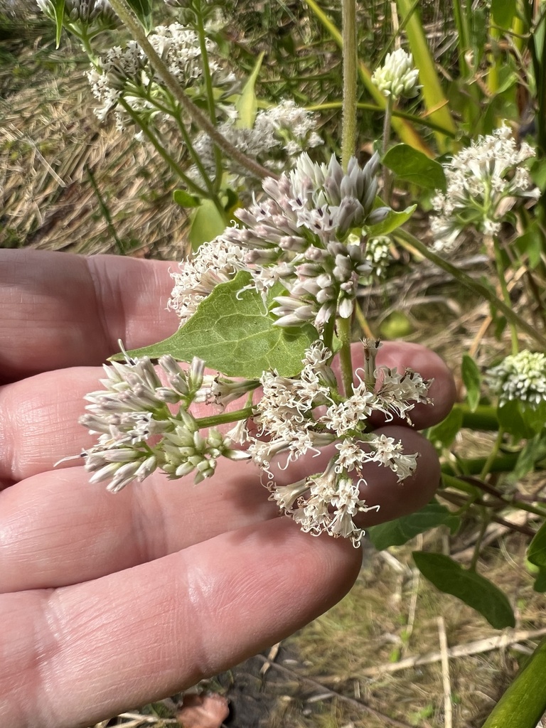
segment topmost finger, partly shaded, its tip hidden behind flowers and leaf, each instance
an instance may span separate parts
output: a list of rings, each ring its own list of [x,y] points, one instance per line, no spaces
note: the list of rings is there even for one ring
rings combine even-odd
[[[120,256],[0,250],[0,381],[100,364],[176,331],[171,264]]]

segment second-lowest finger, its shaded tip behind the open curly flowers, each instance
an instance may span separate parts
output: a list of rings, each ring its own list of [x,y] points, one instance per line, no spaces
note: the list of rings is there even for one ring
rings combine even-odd
[[[387,467],[366,464],[361,494],[379,512],[363,514],[371,526],[410,513],[438,486],[434,448],[407,427],[380,432],[420,453],[416,473],[403,483]],[[274,470],[277,485],[320,472],[333,448]],[[191,476],[152,475],[118,494],[90,486],[82,468],[47,472],[0,494],[0,592],[62,586],[161,558],[193,544],[277,518],[261,473],[250,463],[218,462],[213,478],[194,486]]]

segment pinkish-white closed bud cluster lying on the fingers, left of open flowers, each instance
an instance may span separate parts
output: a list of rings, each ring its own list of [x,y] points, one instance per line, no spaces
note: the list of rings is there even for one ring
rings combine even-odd
[[[218,430],[210,428],[202,435],[189,408],[194,402],[226,404],[256,387],[256,382],[204,376],[203,368],[204,362],[197,358],[186,371],[173,357],[160,357],[164,383],[148,357],[104,367],[105,389],[85,397],[90,404],[80,418],[99,435],[98,445],[82,454],[85,469],[92,472],[91,483],[108,480],[107,489],[115,493],[157,469],[171,478],[194,472],[199,483],[213,475],[220,456],[248,459]]]

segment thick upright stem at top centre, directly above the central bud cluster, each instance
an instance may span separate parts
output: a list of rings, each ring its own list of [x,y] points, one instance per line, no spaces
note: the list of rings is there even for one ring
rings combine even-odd
[[[357,143],[357,9],[355,0],[343,0],[343,121],[341,166],[347,172]]]

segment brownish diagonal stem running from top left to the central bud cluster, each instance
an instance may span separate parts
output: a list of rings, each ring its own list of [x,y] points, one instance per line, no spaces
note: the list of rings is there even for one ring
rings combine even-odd
[[[248,172],[255,175],[258,179],[264,179],[266,177],[277,178],[277,175],[272,173],[271,170],[266,170],[266,168],[258,164],[255,159],[247,157],[247,155],[243,154],[242,151],[237,149],[237,147],[230,144],[229,141],[227,141],[227,139],[223,135],[221,135],[220,132],[218,132],[216,127],[210,123],[210,120],[207,118],[206,114],[203,114],[201,109],[198,108],[189,98],[189,96],[183,91],[180,84],[178,83],[178,80],[175,79],[173,74],[170,73],[169,69],[165,65],[165,62],[162,60],[162,58],[159,58],[159,55],[157,55],[154,47],[146,38],[146,33],[144,33],[141,24],[138,22],[138,18],[132,11],[127,0],[112,0],[111,6],[114,8],[114,11],[116,12],[116,15],[118,15],[119,19],[122,20],[122,23],[127,26],[127,29],[130,31],[132,37],[135,39],[135,41],[138,42],[142,50],[146,53],[146,56],[151,63],[151,66],[154,68],[159,78],[162,79],[165,87],[182,106],[184,111],[186,111],[186,114],[190,116],[192,121],[197,124],[197,127],[206,132],[210,136],[212,141],[223,152],[225,152],[228,157],[231,157],[234,162],[236,162],[241,167],[244,167],[245,170],[248,170]]]

